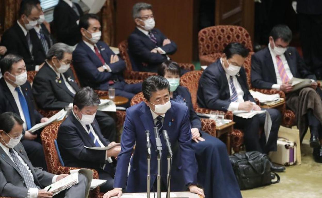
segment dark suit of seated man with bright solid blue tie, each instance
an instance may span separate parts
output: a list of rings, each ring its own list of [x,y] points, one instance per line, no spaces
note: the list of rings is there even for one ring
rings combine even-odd
[[[35,124],[40,123],[40,120],[41,118],[43,118],[43,116],[34,108],[33,93],[30,83],[26,82],[20,87],[27,101],[31,126],[34,126]],[[3,77],[0,79],[0,89],[3,93],[3,97],[0,97],[0,113],[10,111],[20,116],[18,106]],[[40,132],[41,131],[38,131],[38,137],[37,139],[35,139],[37,142],[27,139],[23,139],[21,142],[24,145],[24,148],[27,151],[28,157],[32,164],[35,167],[42,167],[46,169],[46,163],[44,160],[45,155],[43,153],[43,146],[41,145],[40,141]]]

